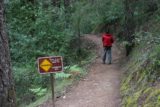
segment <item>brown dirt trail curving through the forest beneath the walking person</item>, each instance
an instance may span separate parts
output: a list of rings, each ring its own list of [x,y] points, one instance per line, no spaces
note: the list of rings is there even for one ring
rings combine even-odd
[[[120,107],[120,80],[122,76],[121,59],[123,55],[115,44],[112,48],[113,62],[102,64],[103,47],[101,38],[95,35],[86,39],[97,44],[97,58],[89,67],[88,75],[68,93],[56,99],[56,107]],[[53,107],[52,101],[47,101],[40,107]]]

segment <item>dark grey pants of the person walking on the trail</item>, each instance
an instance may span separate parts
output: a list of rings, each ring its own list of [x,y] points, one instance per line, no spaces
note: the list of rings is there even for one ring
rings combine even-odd
[[[103,63],[106,62],[106,57],[107,57],[107,62],[111,64],[111,61],[112,61],[111,47],[104,47]]]

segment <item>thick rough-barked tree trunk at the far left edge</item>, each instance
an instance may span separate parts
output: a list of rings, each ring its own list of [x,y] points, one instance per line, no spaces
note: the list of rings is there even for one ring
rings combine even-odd
[[[8,38],[5,32],[4,0],[0,0],[0,107],[15,107]]]

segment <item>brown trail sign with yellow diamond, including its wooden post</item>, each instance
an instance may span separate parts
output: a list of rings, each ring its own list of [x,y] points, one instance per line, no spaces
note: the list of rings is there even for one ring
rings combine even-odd
[[[38,58],[38,71],[40,74],[50,74],[51,89],[52,89],[52,101],[53,107],[55,107],[54,101],[54,82],[55,72],[63,71],[63,60],[61,56],[53,57],[40,57]]]

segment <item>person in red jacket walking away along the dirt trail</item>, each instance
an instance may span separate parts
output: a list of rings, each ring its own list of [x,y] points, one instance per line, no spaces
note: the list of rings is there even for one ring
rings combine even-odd
[[[106,57],[108,59],[108,64],[112,63],[112,44],[114,42],[113,36],[109,33],[104,33],[102,35],[102,42],[104,47],[103,63],[106,62]]]

